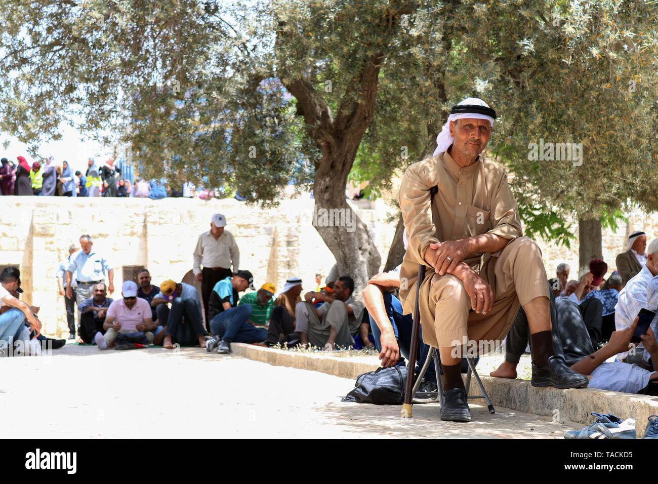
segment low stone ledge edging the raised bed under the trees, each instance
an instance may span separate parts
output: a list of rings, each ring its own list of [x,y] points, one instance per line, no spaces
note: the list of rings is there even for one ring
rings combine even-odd
[[[288,352],[253,344],[232,343],[231,349],[234,354],[249,360],[320,371],[352,380],[361,373],[374,371],[379,367],[377,364],[364,361],[367,358],[341,358],[330,354]],[[493,406],[584,425],[593,421],[594,417],[590,412],[615,414],[622,419],[631,417],[636,421],[638,438],[644,434],[649,416],[658,415],[658,397],[654,396],[598,389],[536,388],[530,385],[528,380],[509,380],[484,375],[480,377]],[[349,388],[346,388],[345,393],[348,391]],[[470,394],[480,394],[475,379],[471,379]]]

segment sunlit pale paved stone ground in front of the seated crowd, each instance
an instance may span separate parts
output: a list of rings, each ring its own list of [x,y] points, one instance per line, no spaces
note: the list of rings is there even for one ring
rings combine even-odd
[[[475,404],[468,424],[440,421],[438,404],[401,419],[399,406],[340,402],[349,379],[199,348],[67,344],[53,356],[3,358],[0,375],[9,437],[561,438],[582,427]]]

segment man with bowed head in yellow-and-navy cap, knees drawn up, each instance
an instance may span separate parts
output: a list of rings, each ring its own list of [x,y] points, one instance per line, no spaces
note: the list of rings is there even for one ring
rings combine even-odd
[[[169,308],[171,304],[171,308]],[[174,343],[181,346],[196,346],[205,348],[205,336],[201,316],[201,300],[194,286],[185,282],[174,282],[167,279],[160,284],[160,292],[151,301],[158,314],[158,323],[166,326],[155,339],[167,349],[174,348]]]

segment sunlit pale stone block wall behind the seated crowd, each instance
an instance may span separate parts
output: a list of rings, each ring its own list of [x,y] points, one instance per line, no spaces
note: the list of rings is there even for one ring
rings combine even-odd
[[[0,265],[18,264],[25,290],[24,300],[39,306],[47,335],[66,336],[63,296],[57,292],[55,272],[68,246],[81,234],[90,234],[94,249],[107,255],[115,269],[114,297],[120,297],[122,267],[144,265],[153,282],[180,281],[192,267],[192,252],[199,234],[209,229],[211,215],[223,213],[240,246],[240,268],[249,269],[255,284],[274,282],[282,288],[291,276],[301,277],[305,290],[315,288],[315,273],[328,275],[334,256],[312,225],[313,200],[307,194],[282,200],[274,209],[250,207],[234,199],[168,198],[62,198],[9,197],[0,218]],[[350,202],[351,203],[351,202]],[[353,207],[367,223],[386,263],[395,232],[387,219],[393,208],[383,200],[359,202]],[[603,254],[610,270],[615,256],[624,250],[630,230],[644,229],[649,240],[658,236],[658,215],[630,214],[628,227],[603,232]],[[577,231],[576,231],[577,233]],[[549,277],[566,261],[575,275],[578,243],[570,250],[538,241]],[[358,289],[358,288],[357,288]]]

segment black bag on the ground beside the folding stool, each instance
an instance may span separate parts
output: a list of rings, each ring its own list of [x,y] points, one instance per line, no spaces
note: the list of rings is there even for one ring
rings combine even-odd
[[[378,368],[357,377],[354,390],[341,402],[401,405],[405,399],[406,366]]]

